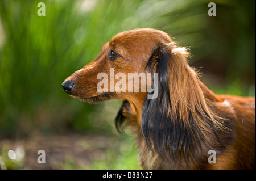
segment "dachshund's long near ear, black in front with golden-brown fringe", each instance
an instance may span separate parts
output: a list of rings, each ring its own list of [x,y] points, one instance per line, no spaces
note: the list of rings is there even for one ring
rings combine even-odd
[[[152,90],[158,89],[158,96],[149,99],[148,92],[144,100],[142,133],[151,150],[165,158],[187,157],[189,151],[201,151],[200,140],[207,139],[203,131],[214,134],[213,129],[222,127],[205,102],[187,56],[187,49],[164,44],[152,53],[146,66],[147,71],[158,73],[152,85]]]

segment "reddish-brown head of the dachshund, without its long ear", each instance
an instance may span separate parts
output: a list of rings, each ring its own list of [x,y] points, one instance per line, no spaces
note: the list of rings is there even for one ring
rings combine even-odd
[[[154,79],[154,74],[147,73],[155,72],[159,47],[171,43],[167,33],[150,28],[121,32],[102,46],[94,61],[68,77],[62,87],[69,95],[89,103],[144,100]]]

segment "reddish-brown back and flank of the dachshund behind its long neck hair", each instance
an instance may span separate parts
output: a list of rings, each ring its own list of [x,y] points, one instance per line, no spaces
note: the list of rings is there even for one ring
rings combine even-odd
[[[232,169],[255,169],[255,98],[220,95],[223,104],[234,114],[236,142],[230,148],[233,154],[224,154],[230,159]],[[225,162],[225,159],[220,161]]]

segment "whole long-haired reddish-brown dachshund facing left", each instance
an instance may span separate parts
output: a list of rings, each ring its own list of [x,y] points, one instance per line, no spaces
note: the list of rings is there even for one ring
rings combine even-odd
[[[88,103],[123,100],[115,124],[135,131],[143,169],[255,169],[255,98],[214,94],[188,56],[163,31],[125,31],[62,87]],[[130,81],[144,82],[131,73],[149,75],[154,91],[133,90]]]

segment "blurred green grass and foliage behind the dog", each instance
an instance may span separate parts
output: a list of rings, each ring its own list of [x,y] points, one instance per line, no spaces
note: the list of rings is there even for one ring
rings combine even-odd
[[[39,2],[0,1],[0,140],[112,135],[121,101],[82,103],[61,83],[112,36],[133,28],[158,28],[189,47],[191,65],[202,67],[203,82],[217,94],[255,96],[255,1],[215,1],[215,17],[207,14],[210,1],[200,0],[46,0],[46,16],[37,15]],[[138,168],[134,150],[126,157],[108,151],[116,162],[92,168]]]

